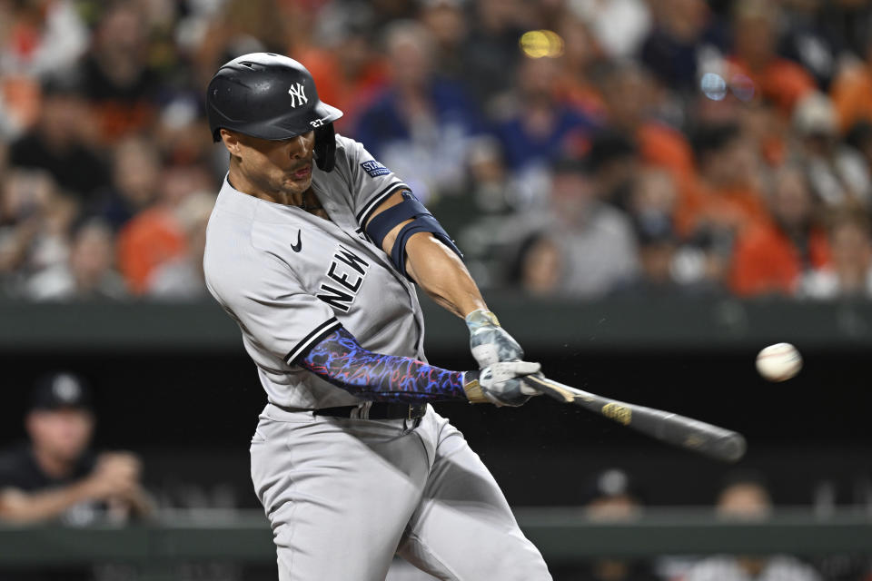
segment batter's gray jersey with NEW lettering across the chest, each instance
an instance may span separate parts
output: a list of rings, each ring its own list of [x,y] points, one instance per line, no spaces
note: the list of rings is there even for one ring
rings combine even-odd
[[[224,180],[206,231],[206,285],[243,332],[269,400],[294,408],[361,401],[292,361],[340,325],[378,353],[424,359],[414,286],[363,233],[407,187],[361,143],[336,136],[336,166],[312,165],[331,221],[238,192]]]

